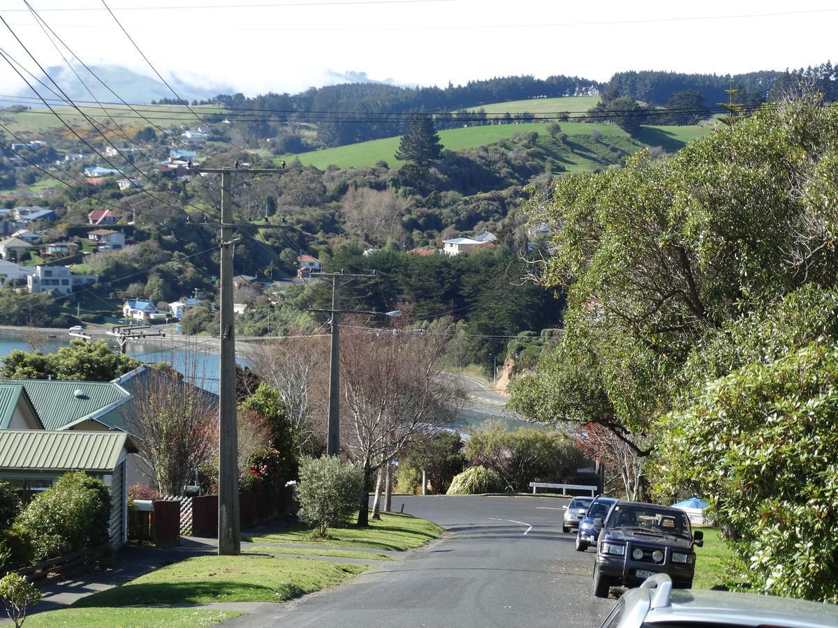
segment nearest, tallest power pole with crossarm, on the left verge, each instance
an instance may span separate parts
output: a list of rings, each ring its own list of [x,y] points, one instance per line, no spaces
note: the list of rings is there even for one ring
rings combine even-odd
[[[221,175],[221,357],[219,374],[218,553],[241,553],[239,521],[239,435],[235,416],[235,313],[233,312],[233,174],[280,173],[282,169],[194,168]],[[282,225],[248,225],[281,227]]]

